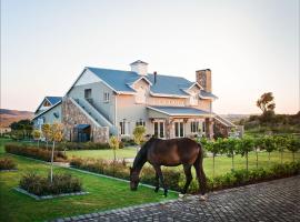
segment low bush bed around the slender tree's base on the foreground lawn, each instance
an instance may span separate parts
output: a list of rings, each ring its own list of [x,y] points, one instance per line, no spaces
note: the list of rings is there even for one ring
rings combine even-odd
[[[53,182],[48,178],[36,173],[28,173],[20,180],[19,186],[36,195],[51,195],[61,193],[73,193],[82,191],[82,183],[71,174],[54,174]]]

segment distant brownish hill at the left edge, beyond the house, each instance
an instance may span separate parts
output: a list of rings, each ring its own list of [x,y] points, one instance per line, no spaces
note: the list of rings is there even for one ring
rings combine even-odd
[[[0,127],[7,128],[12,122],[16,122],[19,120],[32,119],[33,115],[34,113],[30,111],[0,109]]]

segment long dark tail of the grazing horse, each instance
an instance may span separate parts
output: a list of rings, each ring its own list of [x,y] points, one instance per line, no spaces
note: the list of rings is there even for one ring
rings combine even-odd
[[[196,169],[196,171],[197,171],[197,178],[200,183],[200,193],[204,195],[204,193],[207,192],[207,176],[203,170],[204,149],[200,142],[198,143],[198,147],[199,147],[199,153],[196,161],[198,170]]]

